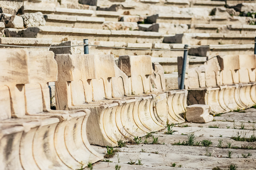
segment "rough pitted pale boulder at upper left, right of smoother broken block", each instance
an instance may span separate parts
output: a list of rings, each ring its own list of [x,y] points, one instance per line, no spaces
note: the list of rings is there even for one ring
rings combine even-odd
[[[21,15],[25,27],[44,26],[46,21],[41,12]]]

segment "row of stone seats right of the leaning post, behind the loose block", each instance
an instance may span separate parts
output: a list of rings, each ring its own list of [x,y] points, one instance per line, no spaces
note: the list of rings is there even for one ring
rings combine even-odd
[[[181,61],[182,58],[178,60],[179,67]],[[188,103],[208,104],[214,113],[254,106],[255,69],[256,55],[212,57],[204,65],[188,69],[185,81],[186,87],[191,89]]]

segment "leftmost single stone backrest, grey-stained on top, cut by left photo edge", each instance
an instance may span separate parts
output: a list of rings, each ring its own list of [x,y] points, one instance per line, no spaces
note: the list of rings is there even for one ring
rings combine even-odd
[[[1,49],[0,120],[25,115],[24,84],[29,83],[28,53],[22,49]]]

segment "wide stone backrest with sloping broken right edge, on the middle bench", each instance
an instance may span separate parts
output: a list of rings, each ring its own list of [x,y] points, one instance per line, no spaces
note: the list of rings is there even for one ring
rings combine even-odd
[[[55,59],[57,110],[130,93],[128,77],[115,65],[112,55],[58,54]]]

